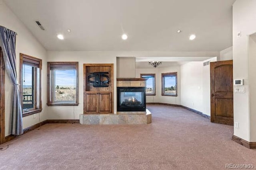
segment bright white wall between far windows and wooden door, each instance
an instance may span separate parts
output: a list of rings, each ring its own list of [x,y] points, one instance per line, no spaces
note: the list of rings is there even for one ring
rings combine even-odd
[[[215,62],[217,57],[206,61]],[[203,66],[206,61],[181,65],[181,105],[210,116],[210,65]]]

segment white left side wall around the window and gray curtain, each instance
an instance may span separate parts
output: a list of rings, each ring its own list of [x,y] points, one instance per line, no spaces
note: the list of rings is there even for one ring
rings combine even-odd
[[[14,15],[14,13],[0,0],[0,25],[18,33],[16,37],[16,60],[18,78],[20,76],[20,53],[42,59],[42,79],[46,80],[46,50],[28,31],[25,25]],[[5,76],[5,136],[10,135],[10,102],[12,96],[12,84],[9,77]],[[39,121],[47,119],[46,111],[46,83],[42,84],[42,112],[23,117],[23,128],[32,126]]]

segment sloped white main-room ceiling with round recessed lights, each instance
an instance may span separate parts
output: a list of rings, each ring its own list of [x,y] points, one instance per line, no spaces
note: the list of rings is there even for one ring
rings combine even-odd
[[[221,51],[232,46],[235,0],[4,1],[47,50]],[[57,39],[58,33],[65,39]],[[189,41],[192,33],[197,37]]]

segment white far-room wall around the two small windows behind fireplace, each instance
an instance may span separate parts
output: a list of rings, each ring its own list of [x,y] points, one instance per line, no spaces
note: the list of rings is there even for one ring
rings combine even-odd
[[[162,73],[167,72],[177,72],[178,96],[162,96]],[[139,78],[140,74],[156,74],[156,96],[146,96],[147,103],[167,103],[180,105],[180,66],[172,66],[166,68],[136,68],[136,77]]]

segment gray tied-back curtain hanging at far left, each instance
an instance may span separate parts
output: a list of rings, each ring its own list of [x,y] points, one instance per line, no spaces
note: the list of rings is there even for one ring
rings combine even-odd
[[[22,107],[20,100],[20,90],[17,80],[16,52],[15,52],[16,32],[0,26],[0,47],[4,56],[6,72],[13,84],[12,110],[11,110],[11,134],[21,135],[22,129]]]

